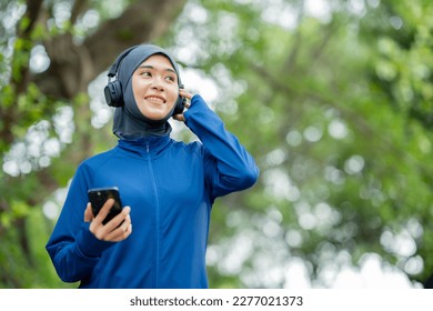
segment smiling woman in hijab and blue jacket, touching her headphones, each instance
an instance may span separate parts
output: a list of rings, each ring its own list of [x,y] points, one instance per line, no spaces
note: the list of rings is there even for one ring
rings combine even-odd
[[[47,251],[59,277],[80,288],[208,288],[212,204],[254,184],[259,169],[203,99],[181,89],[163,49],[127,50],[113,76],[105,98],[117,107],[118,144],[79,165]],[[171,117],[200,142],[173,140]],[[118,187],[124,204],[105,224],[113,200],[97,217],[88,203],[88,190],[102,187]]]

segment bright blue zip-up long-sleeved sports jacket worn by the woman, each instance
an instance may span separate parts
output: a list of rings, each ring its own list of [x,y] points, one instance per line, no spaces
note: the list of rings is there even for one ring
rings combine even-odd
[[[221,119],[195,94],[185,124],[200,139],[119,140],[83,161],[47,251],[64,282],[80,288],[208,288],[205,250],[212,203],[244,190],[259,169]],[[98,240],[83,221],[91,188],[117,185],[131,207],[132,233]]]

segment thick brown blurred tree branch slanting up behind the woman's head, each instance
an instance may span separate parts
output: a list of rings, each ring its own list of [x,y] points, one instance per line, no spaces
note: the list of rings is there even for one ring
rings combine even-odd
[[[75,44],[70,34],[51,39],[44,43],[51,64],[36,77],[38,87],[53,98],[70,99],[85,91],[122,50],[165,33],[184,3],[185,0],[141,0],[119,18],[102,23],[82,44]]]

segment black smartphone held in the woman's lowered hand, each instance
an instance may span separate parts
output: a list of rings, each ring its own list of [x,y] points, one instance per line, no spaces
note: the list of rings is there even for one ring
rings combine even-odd
[[[88,197],[89,202],[92,204],[92,212],[94,217],[97,217],[108,199],[114,199],[114,204],[102,221],[102,224],[105,224],[122,211],[122,202],[117,187],[90,189],[88,191]]]

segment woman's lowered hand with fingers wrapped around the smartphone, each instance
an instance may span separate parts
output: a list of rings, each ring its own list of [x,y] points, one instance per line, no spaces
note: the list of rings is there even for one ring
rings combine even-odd
[[[102,209],[98,212],[97,217],[93,215],[90,202],[85,208],[84,221],[90,222],[89,230],[99,240],[120,242],[125,240],[132,233],[130,207],[124,207],[117,217],[114,217],[105,224],[102,224],[102,221],[105,219],[113,204],[113,199],[107,200]]]

